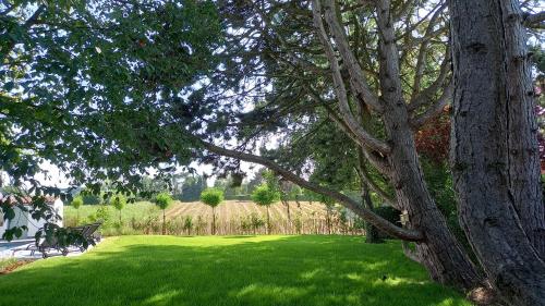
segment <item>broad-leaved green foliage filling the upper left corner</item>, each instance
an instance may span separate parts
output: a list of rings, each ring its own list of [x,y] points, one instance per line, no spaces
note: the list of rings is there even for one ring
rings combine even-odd
[[[179,97],[219,64],[213,2],[3,1],[0,28],[0,168],[14,185],[70,201],[34,180],[44,159],[94,195],[106,179],[136,191],[135,173],[169,172],[160,163],[174,154],[187,163],[180,127],[209,109],[195,103],[202,93]],[[165,125],[172,115],[180,125]]]

